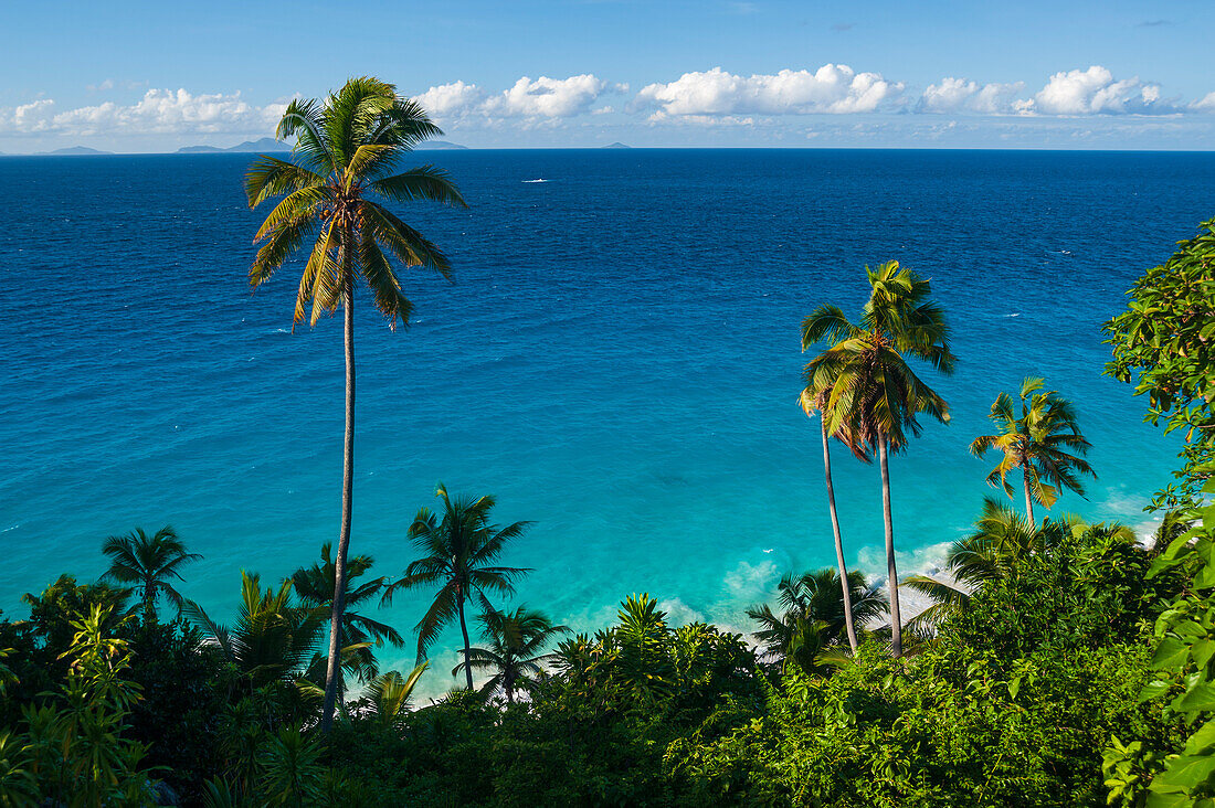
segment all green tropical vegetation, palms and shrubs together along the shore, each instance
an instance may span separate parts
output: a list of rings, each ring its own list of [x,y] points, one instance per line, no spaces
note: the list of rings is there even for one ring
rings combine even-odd
[[[187,597],[200,556],[183,537],[136,530],[101,541],[98,581],[64,573],[0,615],[0,806],[1215,804],[1215,220],[1106,324],[1107,373],[1185,436],[1153,537],[1035,518],[1091,469],[1079,408],[1032,377],[971,443],[1002,456],[988,479],[1006,493],[1019,471],[1025,513],[976,503],[944,569],[900,582],[888,456],[921,416],[949,420],[919,368],[956,360],[929,282],[891,261],[868,271],[858,322],[827,305],[802,324],[836,566],[789,571],[729,621],[741,631],[680,625],[654,593],[569,628],[513,600],[529,522],[496,524],[492,496],[440,485],[441,507],[401,525],[414,560],[397,577],[347,553],[355,282],[403,323],[377,250],[446,270],[363,193],[460,202],[443,175],[397,171],[435,132],[391,85],[352,80],[293,102],[293,158],[250,171],[254,204],[284,197],[255,284],[317,236],[296,317],[346,315],[339,542],[282,580],[242,570],[236,608],[216,609]],[[885,582],[847,569],[832,440],[878,462]],[[932,603],[905,637],[900,583]],[[426,595],[403,666],[402,592]],[[447,679],[429,657],[457,629]]]

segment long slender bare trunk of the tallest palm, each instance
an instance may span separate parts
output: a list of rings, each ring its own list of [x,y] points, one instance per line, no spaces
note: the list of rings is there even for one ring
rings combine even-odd
[[[355,311],[354,278],[346,278],[343,292],[346,343],[346,440],[341,468],[341,533],[338,536],[338,555],[333,564],[333,612],[329,617],[329,659],[324,672],[324,710],[321,713],[321,731],[328,733],[333,725],[333,706],[338,696],[338,679],[341,677],[341,616],[346,610],[346,552],[350,549],[350,510],[355,482]]]

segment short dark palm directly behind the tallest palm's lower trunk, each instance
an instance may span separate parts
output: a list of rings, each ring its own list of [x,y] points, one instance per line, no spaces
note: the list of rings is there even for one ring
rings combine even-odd
[[[300,567],[292,573],[295,594],[300,597],[304,605],[323,612],[329,611],[333,606],[334,581],[337,580],[337,565],[330,558],[332,549],[333,546],[326,542],[321,546],[320,564]],[[384,576],[364,583],[356,583],[356,578],[366,575],[373,564],[374,559],[371,555],[355,555],[346,560],[346,608],[341,615],[340,646],[356,649],[344,655],[343,666],[363,682],[377,674],[373,645],[375,648],[384,643],[397,648],[405,645],[405,638],[395,628],[355,611],[362,606],[372,605],[372,601],[380,599],[384,589],[388,588],[388,578]],[[339,689],[344,690],[344,688]]]

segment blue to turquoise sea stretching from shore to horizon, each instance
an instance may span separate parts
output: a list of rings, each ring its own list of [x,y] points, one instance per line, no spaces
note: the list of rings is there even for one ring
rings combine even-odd
[[[857,312],[865,264],[929,276],[954,328],[953,406],[892,462],[911,572],[967,530],[996,392],[1072,397],[1100,475],[1056,510],[1147,529],[1177,446],[1101,375],[1101,323],[1215,214],[1215,154],[943,151],[426,152],[467,211],[402,214],[454,282],[405,273],[417,322],[356,298],[352,549],[396,575],[443,481],[531,520],[519,599],[577,628],[633,592],[742,628],[780,573],[833,561],[798,326]],[[0,608],[102,539],[171,524],[205,560],[181,589],[228,616],[241,569],[277,580],[338,532],[339,320],[292,335],[298,266],[249,293],[264,211],[249,156],[0,158]],[[546,182],[526,182],[544,179]],[[880,575],[877,469],[837,451],[844,541]],[[383,618],[409,628],[424,595]],[[454,645],[454,634],[450,635]],[[412,652],[385,654],[403,663]],[[450,669],[454,657],[437,655]],[[428,674],[442,690],[446,672]]]

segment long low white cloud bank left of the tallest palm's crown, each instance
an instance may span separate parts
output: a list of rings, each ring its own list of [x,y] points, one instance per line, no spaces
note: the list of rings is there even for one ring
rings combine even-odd
[[[186,90],[148,90],[132,104],[106,103],[57,111],[44,98],[12,111],[0,109],[0,132],[30,135],[249,132],[275,125],[286,103],[254,106],[239,94],[193,95]]]

